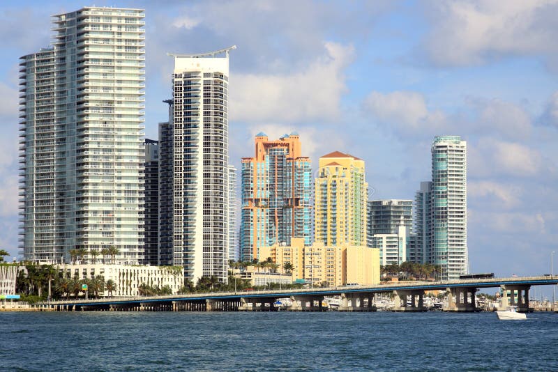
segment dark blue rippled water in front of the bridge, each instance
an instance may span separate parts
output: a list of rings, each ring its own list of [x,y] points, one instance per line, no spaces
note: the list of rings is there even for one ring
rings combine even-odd
[[[558,314],[0,313],[1,371],[558,371]]]

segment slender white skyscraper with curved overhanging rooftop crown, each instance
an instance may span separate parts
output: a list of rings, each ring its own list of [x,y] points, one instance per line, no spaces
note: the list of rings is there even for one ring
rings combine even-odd
[[[229,50],[174,56],[173,265],[227,281]]]

